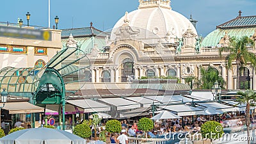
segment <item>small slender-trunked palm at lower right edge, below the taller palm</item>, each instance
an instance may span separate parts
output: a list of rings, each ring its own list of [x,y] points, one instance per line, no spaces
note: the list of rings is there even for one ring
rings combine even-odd
[[[250,107],[256,106],[254,102],[256,102],[256,92],[253,92],[253,90],[246,90],[245,92],[237,92],[237,98],[236,101],[238,104],[246,104],[246,113],[245,113],[245,123],[246,123],[246,130],[247,130],[247,140],[248,144],[250,144]]]

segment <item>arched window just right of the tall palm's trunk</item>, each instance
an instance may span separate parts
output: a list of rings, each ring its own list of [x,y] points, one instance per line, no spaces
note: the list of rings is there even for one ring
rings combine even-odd
[[[239,72],[240,89],[250,89],[250,71],[246,67],[241,67]]]

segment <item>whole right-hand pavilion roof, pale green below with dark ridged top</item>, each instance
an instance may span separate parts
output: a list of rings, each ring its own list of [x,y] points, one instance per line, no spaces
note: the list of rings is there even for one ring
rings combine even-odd
[[[229,38],[236,36],[252,37],[256,29],[256,16],[242,17],[241,11],[236,19],[229,20],[216,27],[216,30],[207,35],[203,42],[202,47],[221,47],[227,46]]]

